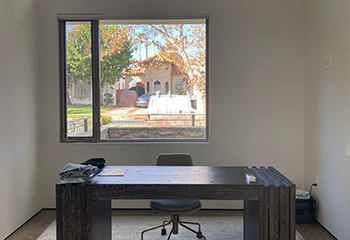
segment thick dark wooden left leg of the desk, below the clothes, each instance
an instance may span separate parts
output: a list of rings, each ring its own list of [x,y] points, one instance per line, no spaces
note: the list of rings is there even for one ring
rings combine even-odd
[[[56,185],[57,240],[111,240],[111,200],[92,200],[91,187]]]

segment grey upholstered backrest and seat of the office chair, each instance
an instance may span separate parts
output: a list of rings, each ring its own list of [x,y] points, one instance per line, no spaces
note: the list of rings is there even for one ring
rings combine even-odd
[[[158,166],[193,166],[188,153],[162,153],[157,159]],[[199,200],[150,200],[150,207],[155,213],[167,215],[186,215],[201,209]]]

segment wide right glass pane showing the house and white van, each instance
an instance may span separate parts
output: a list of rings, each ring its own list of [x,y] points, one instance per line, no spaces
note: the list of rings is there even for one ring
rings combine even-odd
[[[100,21],[102,139],[206,139],[205,20],[162,21]]]

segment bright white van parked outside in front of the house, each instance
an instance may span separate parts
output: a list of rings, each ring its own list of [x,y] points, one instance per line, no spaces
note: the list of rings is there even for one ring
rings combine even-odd
[[[188,95],[154,95],[150,98],[148,115],[195,114],[197,99]]]

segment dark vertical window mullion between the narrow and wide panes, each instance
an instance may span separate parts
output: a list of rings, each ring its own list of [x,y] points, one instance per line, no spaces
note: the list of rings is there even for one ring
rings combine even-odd
[[[100,138],[100,37],[99,21],[91,21],[92,41],[92,105],[93,105],[93,138]]]

